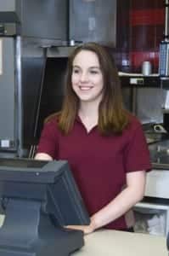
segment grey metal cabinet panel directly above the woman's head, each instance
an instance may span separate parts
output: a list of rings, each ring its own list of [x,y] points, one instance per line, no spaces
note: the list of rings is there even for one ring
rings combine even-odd
[[[70,0],[69,3],[70,39],[115,47],[116,0]]]

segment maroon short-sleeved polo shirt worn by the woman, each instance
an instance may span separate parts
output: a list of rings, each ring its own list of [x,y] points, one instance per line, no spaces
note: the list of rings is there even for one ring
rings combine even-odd
[[[142,125],[132,115],[121,136],[109,137],[100,135],[97,126],[87,133],[79,118],[70,134],[64,136],[53,119],[44,125],[37,152],[47,153],[54,160],[68,160],[90,216],[121,193],[127,172],[151,168]],[[126,229],[125,217],[106,227]]]

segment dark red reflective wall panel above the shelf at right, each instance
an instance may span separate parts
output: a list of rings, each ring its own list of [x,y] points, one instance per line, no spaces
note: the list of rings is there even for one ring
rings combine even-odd
[[[165,27],[165,1],[119,0],[116,61],[122,71],[140,72],[143,61],[158,71],[159,44]]]

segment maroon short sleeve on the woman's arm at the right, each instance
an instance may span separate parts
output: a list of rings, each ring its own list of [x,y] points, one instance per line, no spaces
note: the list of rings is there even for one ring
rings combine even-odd
[[[131,131],[124,155],[126,172],[151,170],[149,148],[142,125],[139,122],[137,122],[135,129]]]

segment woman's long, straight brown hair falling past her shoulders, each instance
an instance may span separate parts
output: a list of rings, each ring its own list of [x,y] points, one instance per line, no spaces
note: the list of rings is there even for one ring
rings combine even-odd
[[[96,43],[78,46],[70,55],[66,74],[65,99],[59,113],[59,129],[68,134],[72,129],[79,108],[79,99],[71,86],[73,61],[82,50],[90,50],[99,58],[99,65],[104,79],[104,95],[99,104],[99,131],[103,135],[121,134],[128,124],[127,111],[123,108],[121,84],[114,60],[106,49]]]

